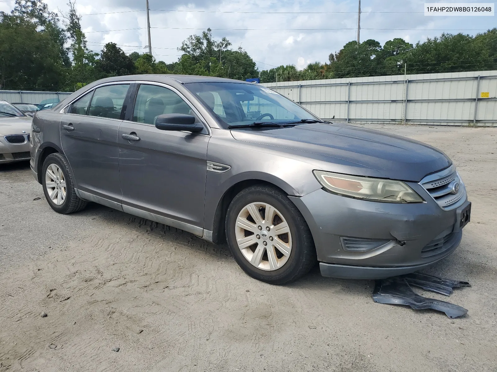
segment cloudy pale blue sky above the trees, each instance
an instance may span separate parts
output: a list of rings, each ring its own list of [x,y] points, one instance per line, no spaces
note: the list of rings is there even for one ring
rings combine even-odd
[[[54,11],[68,10],[67,0],[45,1]],[[145,3],[77,0],[89,48],[100,51],[114,42],[126,53],[145,52]],[[13,4],[2,0],[0,10]],[[232,48],[246,49],[259,69],[280,64],[303,68],[326,62],[331,52],[356,39],[357,7],[357,0],[150,0],[152,50],[157,60],[176,61],[182,40],[211,27],[216,38],[226,36]],[[420,0],[362,0],[361,41],[383,45],[401,37],[415,44],[443,31],[475,35],[497,25],[495,16],[424,16],[423,7]]]

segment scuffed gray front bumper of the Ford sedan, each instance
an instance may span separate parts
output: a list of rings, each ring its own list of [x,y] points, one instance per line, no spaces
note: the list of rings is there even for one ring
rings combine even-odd
[[[408,183],[426,201],[381,203],[316,190],[290,196],[311,229],[323,276],[381,279],[425,268],[452,253],[462,231],[457,209],[444,211],[415,183]],[[341,237],[379,239],[389,244],[365,252],[342,247]],[[426,251],[433,242],[439,248]]]

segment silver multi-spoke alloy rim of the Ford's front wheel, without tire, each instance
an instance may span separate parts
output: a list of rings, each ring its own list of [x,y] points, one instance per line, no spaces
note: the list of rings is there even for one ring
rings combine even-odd
[[[279,269],[292,251],[287,221],[267,203],[255,202],[242,208],[235,223],[235,236],[244,257],[261,270]]]

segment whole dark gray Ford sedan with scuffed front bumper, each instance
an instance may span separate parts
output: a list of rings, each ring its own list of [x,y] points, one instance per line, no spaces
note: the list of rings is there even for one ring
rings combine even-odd
[[[324,122],[258,84],[136,75],[33,120],[31,169],[59,213],[88,201],[227,242],[282,284],[413,272],[459,245],[471,203],[440,150]]]

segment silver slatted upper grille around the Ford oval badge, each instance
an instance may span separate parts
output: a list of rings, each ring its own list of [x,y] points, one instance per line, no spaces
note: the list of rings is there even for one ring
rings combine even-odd
[[[459,183],[459,190],[454,194],[452,187],[456,182]],[[466,187],[459,178],[454,165],[426,176],[419,184],[443,210],[455,209],[466,200]]]

